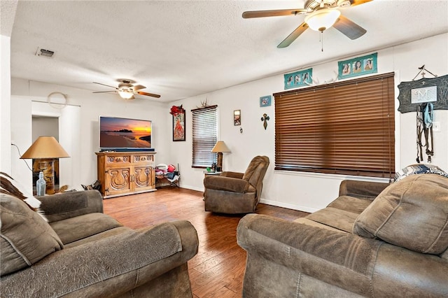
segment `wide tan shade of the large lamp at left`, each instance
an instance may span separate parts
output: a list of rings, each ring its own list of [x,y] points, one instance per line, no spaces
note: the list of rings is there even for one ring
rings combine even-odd
[[[57,143],[54,136],[39,136],[20,158],[51,159],[63,157],[70,157],[69,153]]]

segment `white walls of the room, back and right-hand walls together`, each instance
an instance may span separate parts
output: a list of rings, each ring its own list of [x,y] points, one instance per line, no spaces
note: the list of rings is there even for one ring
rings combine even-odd
[[[402,81],[412,80],[419,72],[418,68],[423,64],[439,76],[448,73],[448,34],[433,36],[393,48],[372,50],[356,56],[372,52],[378,52],[378,73],[395,72],[396,86]],[[340,57],[339,60],[350,58],[352,57]],[[291,67],[291,71],[295,71],[293,64]],[[337,61],[312,67],[314,78],[317,78],[319,82],[324,82],[335,77]],[[31,100],[46,99],[50,92],[55,91],[69,94],[69,104],[80,106],[80,127],[78,128],[81,134],[80,154],[76,160],[80,166],[79,172],[83,184],[91,183],[97,176],[94,152],[98,150],[98,115],[108,115],[153,120],[154,144],[158,152],[156,163],[179,164],[181,187],[202,191],[204,189],[203,170],[191,167],[190,110],[200,106],[201,101],[205,99],[209,105],[218,104],[218,137],[225,141],[232,150],[231,153],[224,153],[224,170],[244,171],[248,162],[255,155],[269,157],[271,164],[264,180],[262,202],[312,212],[323,208],[332,199],[335,199],[339,183],[345,178],[381,180],[274,171],[274,102],[272,106],[260,108],[259,99],[262,96],[283,91],[283,74],[169,104],[151,99],[123,101],[110,94],[92,94],[87,90],[13,79],[12,94],[14,96],[12,100],[14,102],[12,104],[13,111],[11,111],[11,118],[13,118],[11,129],[13,138],[21,144],[22,150],[26,150],[31,145],[29,139],[31,136],[26,136],[26,132],[24,132],[27,122],[31,123]],[[398,97],[398,87],[395,87],[396,97]],[[176,106],[183,104],[183,108],[186,109],[186,141],[172,141],[172,116],[169,115],[169,108],[173,104]],[[398,100],[396,108],[398,108]],[[233,125],[234,110],[241,110],[241,126]],[[263,113],[267,113],[270,117],[266,130],[262,127],[260,120]],[[23,120],[15,120],[19,118]],[[415,163],[415,118],[415,113],[401,114],[398,111],[395,113],[395,168],[397,171]],[[435,121],[440,122],[441,130],[434,133],[433,164],[448,171],[448,111],[437,110],[434,118]],[[239,133],[240,128],[243,128],[243,134]],[[13,164],[13,171],[15,171],[19,169],[20,162],[18,159],[13,159],[13,162],[17,164]]]

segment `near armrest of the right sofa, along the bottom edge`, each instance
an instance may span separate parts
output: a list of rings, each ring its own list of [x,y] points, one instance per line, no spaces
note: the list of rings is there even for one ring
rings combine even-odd
[[[237,242],[248,253],[246,275],[250,276],[244,280],[248,297],[261,291],[259,285],[269,285],[262,272],[269,276],[286,272],[276,288],[284,289],[280,297],[296,294],[297,276],[303,276],[300,289],[304,291],[322,290],[316,286],[321,281],[367,297],[448,295],[448,275],[442,273],[448,268],[447,260],[378,239],[250,214],[239,222]]]

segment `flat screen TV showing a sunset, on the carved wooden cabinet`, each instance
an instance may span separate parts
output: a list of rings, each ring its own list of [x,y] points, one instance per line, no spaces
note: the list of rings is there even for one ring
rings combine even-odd
[[[153,151],[151,120],[99,116],[99,150]]]

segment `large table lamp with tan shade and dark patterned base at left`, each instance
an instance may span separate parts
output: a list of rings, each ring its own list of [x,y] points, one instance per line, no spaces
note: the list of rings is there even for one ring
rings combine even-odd
[[[43,172],[45,194],[55,193],[55,159],[70,157],[54,136],[39,136],[22,155],[22,159],[38,159],[38,171]]]

